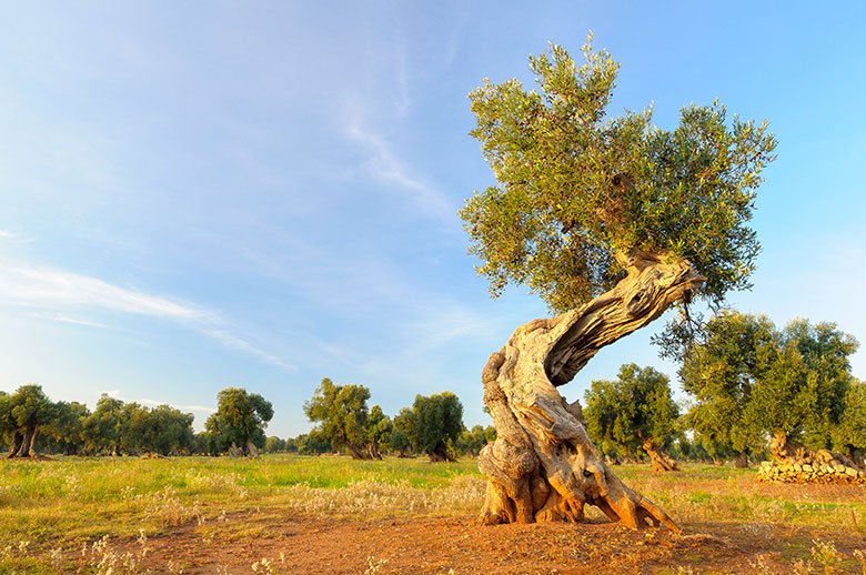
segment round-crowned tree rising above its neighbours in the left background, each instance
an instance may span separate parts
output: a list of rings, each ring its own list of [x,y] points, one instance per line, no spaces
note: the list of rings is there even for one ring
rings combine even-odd
[[[273,417],[271,402],[242,387],[226,387],[216,394],[216,413],[208,417],[204,428],[213,435],[218,452],[232,444],[243,450],[248,441],[256,448],[264,447],[264,428]]]

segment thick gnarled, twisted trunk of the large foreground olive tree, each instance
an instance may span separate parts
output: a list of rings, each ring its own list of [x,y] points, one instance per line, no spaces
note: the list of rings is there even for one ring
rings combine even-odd
[[[556,391],[600,349],[652,322],[704,281],[685,260],[633,251],[621,263],[628,275],[613,290],[558,317],[521,325],[487,361],[484,403],[496,441],[479,456],[489,478],[482,523],[582,522],[590,504],[633,528],[652,523],[679,531],[613,474],[586,435],[580,404]]]

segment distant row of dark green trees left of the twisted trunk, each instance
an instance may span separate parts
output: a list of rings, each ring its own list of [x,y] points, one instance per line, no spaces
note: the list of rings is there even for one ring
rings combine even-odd
[[[412,407],[393,418],[379,405],[367,408],[370,390],[336,385],[324,379],[304,412],[315,427],[282,440],[266,436],[273,405],[256,393],[226,387],[216,395],[218,410],[204,431],[195,433],[193,415],[170,405],[148,407],[108,394],[91,412],[79,402],[54,402],[40,385],[0,391],[0,448],[7,457],[63,455],[194,455],[255,456],[259,452],[322,454],[345,452],[359,458],[383,454],[426,454],[433,461],[453,461],[477,454],[495,438],[492,426],[463,425],[463,405],[451,392],[419,395]]]

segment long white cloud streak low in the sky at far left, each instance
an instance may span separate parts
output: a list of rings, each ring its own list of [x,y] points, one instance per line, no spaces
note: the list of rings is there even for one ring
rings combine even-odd
[[[52,268],[4,262],[3,273],[0,274],[0,302],[3,301],[37,307],[39,311],[33,315],[40,319],[91,327],[108,326],[90,319],[71,316],[66,312],[94,309],[168,320],[187,325],[226,347],[271,365],[294,369],[273,354],[230,333],[225,326],[226,322],[214,312],[120,288],[98,278]]]

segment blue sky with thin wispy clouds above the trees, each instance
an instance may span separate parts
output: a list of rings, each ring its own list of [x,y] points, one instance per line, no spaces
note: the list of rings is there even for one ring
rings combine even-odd
[[[754,289],[729,303],[866,341],[866,8],[860,2],[19,2],[0,14],[0,390],[38,383],[195,415],[228,386],[305,433],[323,377],[387,414],[457,394],[548,316],[487,293],[457,210],[494,178],[466,95],[533,83],[587,33],[622,68],[611,113],[716,98],[766,119]],[[603,350],[671,375],[650,337]],[[866,377],[866,352],[852,357]]]

